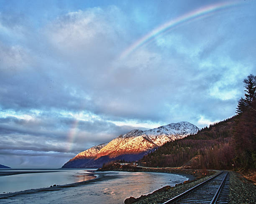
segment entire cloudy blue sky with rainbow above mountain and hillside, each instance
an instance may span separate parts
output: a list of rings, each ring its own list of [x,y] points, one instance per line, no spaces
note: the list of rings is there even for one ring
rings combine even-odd
[[[59,168],[131,129],[232,117],[256,1],[0,0],[0,164]]]

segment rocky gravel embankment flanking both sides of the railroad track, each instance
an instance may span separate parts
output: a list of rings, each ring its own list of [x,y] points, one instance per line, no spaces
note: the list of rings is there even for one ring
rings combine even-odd
[[[98,171],[126,171],[126,172],[162,172],[181,174],[189,178],[183,184],[176,184],[175,187],[166,186],[148,195],[141,195],[141,197],[130,197],[125,199],[125,204],[157,204],[164,203],[188,189],[200,184],[217,174],[219,171],[211,170],[193,170],[182,168],[147,168],[137,167],[132,164],[122,165],[119,163],[108,164],[105,167],[98,169]],[[256,203],[256,185],[252,181],[247,180],[243,175],[230,171],[230,203]],[[190,176],[188,176],[190,175]]]

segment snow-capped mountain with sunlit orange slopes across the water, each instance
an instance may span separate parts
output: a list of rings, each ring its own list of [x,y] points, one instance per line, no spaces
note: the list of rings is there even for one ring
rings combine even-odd
[[[133,129],[108,143],[80,152],[62,168],[98,168],[113,160],[135,161],[156,150],[166,142],[196,134],[198,128],[189,122],[171,123],[142,131]]]

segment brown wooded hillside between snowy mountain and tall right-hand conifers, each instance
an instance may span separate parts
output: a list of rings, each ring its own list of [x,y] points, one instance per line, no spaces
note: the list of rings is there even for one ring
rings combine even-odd
[[[167,142],[155,152],[144,156],[141,162],[146,162],[142,164],[148,167],[180,167],[187,162],[187,166],[193,169],[232,167],[234,149],[230,142],[235,118],[210,125],[184,139]]]

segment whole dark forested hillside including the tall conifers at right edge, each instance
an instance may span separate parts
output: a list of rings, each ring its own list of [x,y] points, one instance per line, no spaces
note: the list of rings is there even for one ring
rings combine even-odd
[[[256,75],[249,75],[243,82],[245,98],[239,100],[236,116],[205,127],[195,135],[167,142],[139,163],[192,169],[256,168]]]

